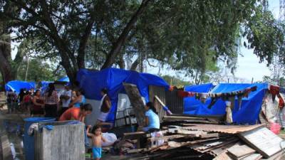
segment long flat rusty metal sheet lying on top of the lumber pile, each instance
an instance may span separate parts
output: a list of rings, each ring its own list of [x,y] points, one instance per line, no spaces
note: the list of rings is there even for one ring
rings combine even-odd
[[[221,132],[227,134],[238,134],[242,132],[251,131],[259,127],[263,127],[262,124],[256,125],[219,125],[219,124],[187,124],[187,127],[183,129],[199,130],[206,132]]]

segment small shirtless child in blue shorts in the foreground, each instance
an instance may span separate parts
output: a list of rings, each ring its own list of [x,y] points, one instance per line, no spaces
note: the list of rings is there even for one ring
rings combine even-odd
[[[103,142],[106,142],[106,139],[102,137],[102,131],[101,127],[99,125],[95,125],[92,128],[91,133],[89,133],[90,125],[88,126],[86,132],[88,137],[92,137],[92,153],[93,153],[93,159],[99,160],[101,158],[101,153],[102,153],[102,144],[101,140]]]

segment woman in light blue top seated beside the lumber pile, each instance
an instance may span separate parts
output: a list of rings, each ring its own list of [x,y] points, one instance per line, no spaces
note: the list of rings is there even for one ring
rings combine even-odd
[[[147,102],[145,105],[145,127],[142,128],[144,132],[150,129],[160,129],[160,117],[152,102]]]

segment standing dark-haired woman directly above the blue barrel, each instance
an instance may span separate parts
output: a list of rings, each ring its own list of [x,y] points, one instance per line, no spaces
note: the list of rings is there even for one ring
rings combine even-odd
[[[48,90],[45,94],[45,117],[56,117],[58,109],[58,92],[53,83],[48,84]]]

